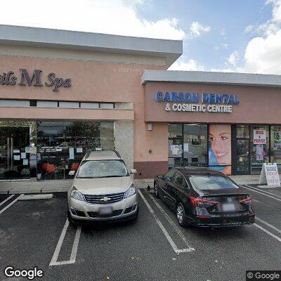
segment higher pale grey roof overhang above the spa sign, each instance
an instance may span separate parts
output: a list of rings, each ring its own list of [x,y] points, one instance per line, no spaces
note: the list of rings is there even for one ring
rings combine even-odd
[[[150,39],[14,25],[0,25],[0,44],[150,55],[165,58],[167,67],[183,53],[183,41],[181,40]]]

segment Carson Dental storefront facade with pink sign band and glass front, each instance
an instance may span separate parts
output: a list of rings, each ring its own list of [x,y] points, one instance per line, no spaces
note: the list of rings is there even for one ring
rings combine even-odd
[[[165,124],[166,166],[209,166],[225,174],[281,169],[280,77],[146,71],[145,122]],[[168,160],[168,161],[167,161]],[[162,164],[163,165],[163,164]],[[143,164],[145,166],[145,164]]]

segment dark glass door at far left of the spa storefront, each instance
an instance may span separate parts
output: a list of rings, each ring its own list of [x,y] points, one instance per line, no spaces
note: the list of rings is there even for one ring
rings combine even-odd
[[[0,127],[0,180],[30,178],[29,155],[29,127]]]

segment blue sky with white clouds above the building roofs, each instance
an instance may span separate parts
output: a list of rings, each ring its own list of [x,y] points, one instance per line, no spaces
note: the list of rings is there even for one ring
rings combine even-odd
[[[8,6],[0,24],[183,40],[183,55],[169,70],[281,74],[281,0],[9,0]]]

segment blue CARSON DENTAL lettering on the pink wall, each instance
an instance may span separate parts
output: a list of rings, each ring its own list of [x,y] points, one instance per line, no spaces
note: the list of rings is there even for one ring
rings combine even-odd
[[[183,103],[218,103],[218,104],[233,104],[239,105],[240,100],[237,95],[228,93],[202,93],[201,100],[199,93],[183,93],[183,92],[169,92],[157,91],[155,93],[155,99],[157,101],[164,102],[183,102]]]

